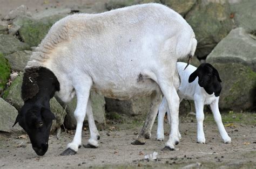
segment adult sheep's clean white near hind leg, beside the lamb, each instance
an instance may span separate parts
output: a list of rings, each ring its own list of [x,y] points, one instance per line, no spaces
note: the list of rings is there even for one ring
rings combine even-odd
[[[173,81],[172,78],[163,82],[159,81],[159,86],[168,104],[167,113],[169,112],[171,117],[171,131],[169,140],[165,143],[165,149],[174,150],[174,145],[179,144],[179,96],[173,83],[166,83],[170,81]]]

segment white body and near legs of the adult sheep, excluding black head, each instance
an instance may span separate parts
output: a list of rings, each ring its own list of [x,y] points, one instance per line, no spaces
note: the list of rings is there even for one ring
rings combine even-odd
[[[26,68],[49,68],[60,83],[58,96],[63,101],[70,101],[76,92],[79,125],[69,147],[77,151],[88,89],[119,100],[161,89],[164,95],[174,95],[168,99],[170,106],[178,105],[173,90],[176,61],[193,56],[196,46],[193,30],[177,12],[161,4],[134,5],[59,20]],[[178,126],[178,117],[173,121]],[[174,148],[176,130],[171,135],[169,145]]]

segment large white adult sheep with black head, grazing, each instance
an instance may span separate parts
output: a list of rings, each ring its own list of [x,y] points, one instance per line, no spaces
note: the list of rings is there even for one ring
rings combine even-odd
[[[192,57],[196,46],[190,25],[161,4],[65,17],[51,27],[25,67],[24,105],[15,123],[28,133],[33,150],[43,156],[54,119],[50,98],[57,93],[68,102],[76,94],[76,133],[62,155],[75,154],[82,145],[90,90],[119,100],[151,95],[150,118],[155,118],[163,93],[172,112],[166,146],[173,150],[179,142],[179,97],[173,85],[178,78],[174,76],[176,61]],[[142,131],[140,137],[144,136]],[[97,143],[96,137],[92,139]]]

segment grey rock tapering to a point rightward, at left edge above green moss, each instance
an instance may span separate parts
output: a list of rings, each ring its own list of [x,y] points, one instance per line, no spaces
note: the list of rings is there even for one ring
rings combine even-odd
[[[10,34],[0,34],[0,53],[11,54],[16,51],[29,50],[28,44],[22,43]]]

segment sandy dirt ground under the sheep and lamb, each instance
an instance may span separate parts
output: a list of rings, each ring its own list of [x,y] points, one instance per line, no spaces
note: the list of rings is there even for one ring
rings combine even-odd
[[[59,156],[71,142],[72,131],[62,132],[60,139],[51,136],[48,152],[42,157],[32,150],[28,138],[1,133],[0,168],[256,168],[256,114],[223,115],[231,144],[222,142],[212,115],[205,117],[206,144],[196,143],[196,118],[180,118],[182,139],[176,151],[161,150],[165,142],[156,140],[157,123],[145,145],[131,145],[143,125],[143,121],[131,117],[123,118],[122,124],[110,121],[106,129],[99,132],[99,147],[81,147],[75,156]],[[167,123],[165,131],[169,131]],[[87,139],[88,130],[83,131],[82,142],[86,144]],[[157,160],[144,160],[146,154],[153,152],[158,152]]]

